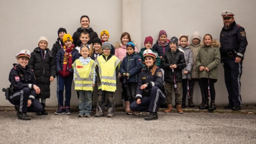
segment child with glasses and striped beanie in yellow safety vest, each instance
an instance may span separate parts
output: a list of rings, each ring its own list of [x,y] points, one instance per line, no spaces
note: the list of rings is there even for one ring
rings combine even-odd
[[[114,92],[116,91],[116,83],[119,74],[119,67],[121,60],[115,55],[112,55],[111,44],[104,42],[102,44],[103,54],[100,55],[95,61],[96,66],[96,83],[98,86],[98,102],[95,117],[104,115],[105,97],[108,97],[108,115],[107,117],[114,117],[115,101]]]

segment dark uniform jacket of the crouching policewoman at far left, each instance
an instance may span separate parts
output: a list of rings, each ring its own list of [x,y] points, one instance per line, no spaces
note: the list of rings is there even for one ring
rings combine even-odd
[[[13,64],[13,66],[9,74],[10,88],[13,87],[13,91],[15,92],[28,87],[31,89],[28,99],[35,99],[36,91],[33,89],[33,86],[36,84],[36,77],[34,71],[28,65],[26,68],[21,68],[19,64]]]

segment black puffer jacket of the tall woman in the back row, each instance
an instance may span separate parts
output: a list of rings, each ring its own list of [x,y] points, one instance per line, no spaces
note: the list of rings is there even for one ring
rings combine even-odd
[[[80,37],[80,35],[81,35],[81,33],[83,32],[84,30],[81,28],[81,27],[79,27],[77,30],[76,30],[76,32],[73,34],[73,36],[72,36],[72,38],[73,38],[73,44],[75,45],[75,47],[76,46],[80,46],[81,45],[81,40],[79,39],[79,37]],[[89,28],[89,29],[87,29],[87,30],[85,30],[86,32],[88,32],[89,33],[89,37],[90,37],[90,40],[88,41],[88,45],[90,45],[91,43],[92,43],[92,40],[94,39],[94,38],[98,38],[98,34],[96,33],[96,32],[94,32],[93,30],[92,30],[92,28]]]

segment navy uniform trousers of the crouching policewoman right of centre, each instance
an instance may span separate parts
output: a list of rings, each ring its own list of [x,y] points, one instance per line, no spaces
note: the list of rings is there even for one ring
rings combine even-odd
[[[150,96],[141,98],[141,104],[137,104],[136,100],[130,105],[132,111],[138,112],[157,112],[159,105],[164,104],[165,96],[163,92],[156,86],[151,88]]]

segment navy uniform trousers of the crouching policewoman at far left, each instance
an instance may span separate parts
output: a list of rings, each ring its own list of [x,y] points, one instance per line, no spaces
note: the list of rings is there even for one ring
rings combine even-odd
[[[42,112],[43,106],[37,99],[32,100],[31,105],[27,107],[30,90],[28,87],[24,87],[21,90],[13,92],[9,98],[10,103],[19,105],[19,112]]]

